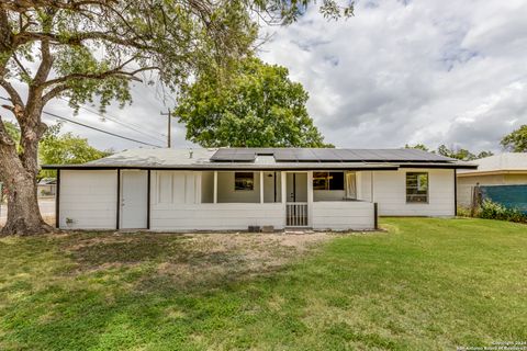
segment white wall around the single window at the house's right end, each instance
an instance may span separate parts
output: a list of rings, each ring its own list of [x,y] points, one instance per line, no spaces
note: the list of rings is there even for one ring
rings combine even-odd
[[[406,172],[428,173],[428,203],[406,203]],[[379,204],[381,216],[455,215],[455,177],[452,169],[400,169],[397,171],[358,172],[359,199]],[[371,186],[373,180],[373,186]],[[372,189],[373,188],[373,189]],[[371,196],[373,192],[373,197]]]

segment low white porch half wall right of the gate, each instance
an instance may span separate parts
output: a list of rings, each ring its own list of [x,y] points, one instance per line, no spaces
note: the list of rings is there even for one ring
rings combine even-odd
[[[362,201],[329,201],[313,203],[313,229],[373,229],[373,203]]]

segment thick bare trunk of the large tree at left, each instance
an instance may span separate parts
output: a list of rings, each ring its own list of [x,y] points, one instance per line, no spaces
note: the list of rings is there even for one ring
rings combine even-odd
[[[8,220],[1,235],[35,235],[54,228],[41,216],[36,196],[36,174],[25,170],[12,147],[0,145],[0,178],[8,189]]]

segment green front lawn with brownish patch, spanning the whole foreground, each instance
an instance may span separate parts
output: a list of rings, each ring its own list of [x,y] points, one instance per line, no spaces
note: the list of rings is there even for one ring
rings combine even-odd
[[[388,218],[242,236],[0,239],[0,349],[441,350],[527,341],[527,226]],[[231,235],[233,237],[233,235]],[[294,239],[294,238],[293,238]]]

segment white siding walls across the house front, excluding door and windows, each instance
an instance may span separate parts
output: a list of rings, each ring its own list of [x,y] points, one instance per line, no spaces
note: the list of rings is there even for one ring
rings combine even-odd
[[[412,171],[428,172],[429,203],[406,203],[405,174]],[[60,174],[60,228],[114,229],[116,171],[61,170]],[[203,179],[208,179],[208,185],[202,185],[202,172],[152,171],[150,229],[245,230],[250,225],[272,225],[277,229],[282,229],[285,224],[285,202],[280,199],[282,202],[260,204],[259,173],[255,176],[255,195],[258,202],[213,204],[202,203],[202,200],[208,197],[208,195],[202,196],[202,191],[210,185],[210,179],[206,176]],[[281,183],[285,179],[284,176],[284,173],[279,174],[279,193],[287,188],[285,182]],[[264,181],[267,185],[266,180]],[[218,190],[225,188],[234,189],[234,178],[232,183],[228,180],[218,182]],[[312,202],[315,199],[322,200],[322,196],[318,196],[316,191],[307,191],[307,199],[311,200],[309,201],[310,225],[315,229],[373,228],[372,202],[379,203],[379,214],[385,216],[453,216],[455,214],[453,170],[401,169],[357,172],[357,192],[358,197],[366,202]],[[66,225],[66,218],[71,218],[74,223]]]

